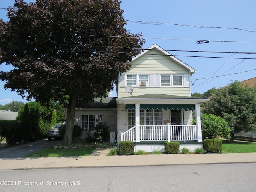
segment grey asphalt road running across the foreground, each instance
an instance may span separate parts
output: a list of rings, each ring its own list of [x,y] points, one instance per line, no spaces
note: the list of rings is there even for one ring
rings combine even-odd
[[[15,192],[255,192],[256,163],[0,171]]]

